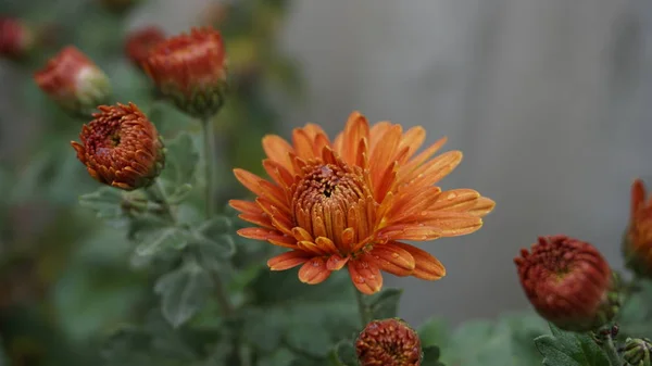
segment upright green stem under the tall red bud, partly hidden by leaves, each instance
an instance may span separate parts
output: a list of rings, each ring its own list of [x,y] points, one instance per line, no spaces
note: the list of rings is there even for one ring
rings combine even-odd
[[[205,204],[206,204],[206,218],[211,219],[215,216],[215,193],[217,191],[215,187],[215,132],[213,130],[213,123],[211,118],[205,118],[201,122],[202,134],[203,134],[203,151],[204,151],[204,172],[205,172]],[[228,293],[224,288],[222,278],[216,272],[213,272],[213,282],[215,285],[215,298],[224,316],[230,317],[234,314],[234,305],[231,304]]]

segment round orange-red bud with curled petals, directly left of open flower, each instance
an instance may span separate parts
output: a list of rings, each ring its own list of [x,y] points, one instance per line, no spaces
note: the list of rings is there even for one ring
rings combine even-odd
[[[165,166],[163,142],[154,125],[134,103],[102,105],[82,127],[77,159],[98,181],[124,190],[147,187]]]

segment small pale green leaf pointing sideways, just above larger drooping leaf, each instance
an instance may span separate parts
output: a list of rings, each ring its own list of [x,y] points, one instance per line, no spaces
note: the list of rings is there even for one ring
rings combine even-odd
[[[189,235],[178,227],[146,228],[136,234],[138,247],[136,254],[151,256],[161,251],[175,249],[181,250],[188,245]]]

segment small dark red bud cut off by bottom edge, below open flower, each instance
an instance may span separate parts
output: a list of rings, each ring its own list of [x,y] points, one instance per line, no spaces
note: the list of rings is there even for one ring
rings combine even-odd
[[[398,318],[367,324],[355,352],[361,366],[419,366],[423,356],[418,335]]]

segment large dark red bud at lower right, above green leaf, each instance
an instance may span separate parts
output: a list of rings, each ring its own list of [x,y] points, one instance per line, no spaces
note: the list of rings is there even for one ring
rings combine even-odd
[[[535,310],[559,328],[594,330],[619,307],[612,270],[591,244],[566,236],[540,237],[514,260]]]

